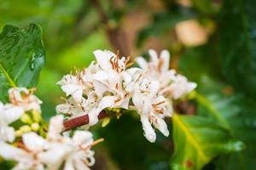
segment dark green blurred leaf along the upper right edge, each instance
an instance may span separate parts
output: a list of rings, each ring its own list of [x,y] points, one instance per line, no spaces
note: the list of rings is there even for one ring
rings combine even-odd
[[[256,1],[227,0],[220,13],[220,54],[225,78],[256,99]]]

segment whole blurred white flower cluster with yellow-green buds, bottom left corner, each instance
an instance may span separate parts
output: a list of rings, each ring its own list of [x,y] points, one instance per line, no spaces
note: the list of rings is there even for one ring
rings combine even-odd
[[[35,124],[27,114],[41,114],[42,102],[33,95],[33,90],[26,88],[10,88],[9,102],[5,105],[0,102],[0,157],[16,161],[15,170],[90,169],[95,163],[90,148],[99,140],[93,141],[88,131],[75,131],[72,137],[61,135],[64,129],[61,115],[51,118],[46,139],[36,130],[25,130],[21,138],[15,139],[20,130],[9,124],[19,119]]]

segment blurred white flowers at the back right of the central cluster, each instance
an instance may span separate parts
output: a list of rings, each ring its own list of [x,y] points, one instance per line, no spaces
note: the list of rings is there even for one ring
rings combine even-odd
[[[160,53],[160,58],[153,49],[149,50],[149,55],[149,62],[143,57],[138,57],[137,64],[146,71],[148,79],[160,82],[160,95],[179,99],[196,88],[195,82],[189,82],[175,70],[169,70],[170,54],[167,50]]]

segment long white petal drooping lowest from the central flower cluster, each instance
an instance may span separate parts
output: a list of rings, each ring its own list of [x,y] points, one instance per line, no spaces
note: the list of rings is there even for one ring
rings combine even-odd
[[[153,127],[151,127],[147,116],[141,116],[141,122],[143,124],[144,136],[149,142],[154,143],[156,139],[156,134],[154,133]]]

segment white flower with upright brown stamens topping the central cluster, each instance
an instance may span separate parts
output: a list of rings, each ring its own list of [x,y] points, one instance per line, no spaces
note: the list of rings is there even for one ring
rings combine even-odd
[[[105,50],[94,51],[96,62],[102,70],[94,74],[94,87],[96,94],[101,98],[104,94],[112,94],[115,97],[114,106],[128,109],[130,94],[125,91],[125,82],[131,79],[126,74],[125,68],[129,59],[122,57],[119,59],[118,54]]]

